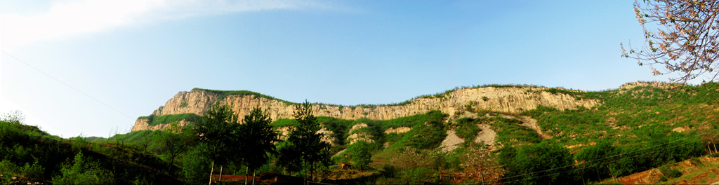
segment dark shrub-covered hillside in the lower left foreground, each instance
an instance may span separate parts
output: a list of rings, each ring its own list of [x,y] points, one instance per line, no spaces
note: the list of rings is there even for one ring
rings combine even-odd
[[[0,184],[182,184],[167,167],[122,142],[63,139],[0,119]]]

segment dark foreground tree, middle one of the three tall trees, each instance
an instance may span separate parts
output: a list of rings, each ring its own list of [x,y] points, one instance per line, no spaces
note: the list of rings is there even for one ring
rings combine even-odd
[[[275,142],[280,141],[270,123],[269,109],[262,111],[254,108],[249,115],[244,116],[244,124],[239,125],[246,151],[242,153],[244,163],[252,170],[252,184],[255,184],[255,172],[270,159],[269,153],[275,152]]]

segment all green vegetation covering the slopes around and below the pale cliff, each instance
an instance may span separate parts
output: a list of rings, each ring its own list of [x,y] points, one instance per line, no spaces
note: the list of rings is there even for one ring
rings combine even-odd
[[[670,164],[714,152],[719,142],[718,90],[715,83],[585,93],[548,88],[543,91],[600,105],[571,110],[539,106],[521,115],[472,109],[477,112],[472,118],[434,110],[391,120],[344,120],[314,117],[311,104],[303,103],[295,104],[295,119],[272,121],[267,110],[253,110],[244,124],[237,124],[232,105],[216,105],[204,118],[142,117],[150,125],[194,123],[186,128],[175,124],[165,131],[111,138],[58,138],[6,117],[0,122],[0,174],[8,175],[0,176],[0,182],[207,184],[209,174],[222,169],[224,174],[294,176],[286,184],[303,181],[300,176],[332,184],[592,184],[659,168],[661,178],[676,183],[690,178],[690,172]],[[524,116],[536,120],[549,137],[529,128],[533,121],[523,123],[528,120]],[[367,127],[349,131],[358,124]],[[495,143],[485,143],[492,147],[474,142],[482,124],[497,134]],[[270,130],[280,127],[289,127],[285,141],[276,140]],[[332,146],[321,139],[321,128],[331,131]],[[439,147],[449,130],[464,138],[454,151]],[[367,141],[350,145],[353,134]]]

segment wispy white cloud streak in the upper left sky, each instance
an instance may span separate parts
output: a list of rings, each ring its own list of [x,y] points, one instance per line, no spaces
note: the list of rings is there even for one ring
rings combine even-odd
[[[0,16],[0,44],[8,50],[138,22],[273,9],[328,8],[316,1],[81,0],[52,4],[41,14]]]

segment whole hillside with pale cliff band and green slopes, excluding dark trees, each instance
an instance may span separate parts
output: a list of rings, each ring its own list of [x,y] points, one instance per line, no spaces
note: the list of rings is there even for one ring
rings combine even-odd
[[[257,184],[303,181],[307,173],[298,169],[298,162],[282,160],[296,155],[280,152],[290,146],[288,134],[298,126],[297,120],[290,118],[296,103],[249,91],[201,89],[180,92],[152,115],[139,118],[138,122],[144,123],[135,128],[142,131],[111,138],[63,140],[37,128],[0,124],[0,156],[6,156],[0,158],[0,174],[11,171],[30,181],[55,181],[52,178],[63,173],[58,171],[67,168],[62,161],[71,163],[70,158],[82,151],[112,172],[106,176],[119,179],[122,174],[117,184],[129,183],[132,178],[150,184],[207,184],[213,162],[196,130],[168,132],[160,128],[174,125],[169,123],[198,123],[202,111],[215,103],[234,103],[231,109],[239,115],[256,105],[269,107],[273,122],[268,129],[280,133],[280,141],[274,143],[278,152],[270,155],[267,163],[257,171],[248,171],[244,163],[226,163],[220,169],[232,176],[223,176],[224,182],[243,184],[239,179],[247,179],[252,172],[260,176]],[[313,105],[312,109],[321,127],[316,133],[324,134],[321,141],[331,144],[323,149],[323,155],[331,158],[316,163],[321,171],[313,175],[318,177],[314,181],[322,183],[719,181],[715,176],[719,155],[717,83],[631,82],[595,92],[492,85],[449,90],[393,105]],[[171,146],[178,141],[186,141],[184,150],[173,156]],[[73,149],[56,150],[55,146]],[[40,149],[32,150],[32,155],[22,149],[32,147]],[[40,151],[57,152],[41,155]],[[37,166],[45,169],[40,172],[42,178],[33,175],[38,174],[33,172]],[[142,172],[123,172],[129,169]],[[147,173],[160,174],[160,178],[142,176]],[[213,181],[218,182],[217,166],[213,173]],[[0,180],[9,181],[1,176]]]

